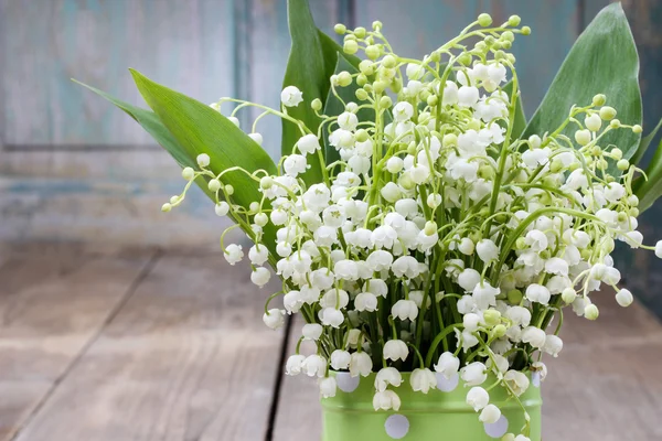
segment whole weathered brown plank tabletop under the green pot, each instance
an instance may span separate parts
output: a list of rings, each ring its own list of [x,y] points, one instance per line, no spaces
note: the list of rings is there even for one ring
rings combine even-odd
[[[260,320],[269,292],[218,252],[1,247],[0,441],[317,440],[314,381],[281,376],[292,341]],[[662,325],[596,299],[548,361],[545,441],[662,440]]]

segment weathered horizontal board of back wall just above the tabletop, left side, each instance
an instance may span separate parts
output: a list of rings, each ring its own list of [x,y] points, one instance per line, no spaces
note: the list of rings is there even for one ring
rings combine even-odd
[[[161,213],[185,182],[160,149],[0,154],[0,240],[217,248],[217,236],[229,226],[196,186],[179,209]]]

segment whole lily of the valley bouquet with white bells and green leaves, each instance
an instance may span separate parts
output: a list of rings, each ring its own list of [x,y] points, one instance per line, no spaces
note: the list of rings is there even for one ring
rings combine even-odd
[[[600,289],[632,302],[618,286],[616,241],[662,256],[637,230],[662,169],[658,155],[652,173],[637,166],[650,137],[624,15],[612,6],[597,17],[526,122],[509,53],[531,32],[519,17],[481,14],[414,60],[393,53],[378,21],[337,25],[341,46],[292,3],[280,108],[205,106],[137,72],[153,114],[109,98],[183,166],[185,189],[162,209],[197,183],[254,243],[224,234],[226,260],[248,259],[258,287],[275,270],[281,290],[264,322],[278,329],[298,313],[300,342],[317,346],[297,348],[287,374],[318,377],[333,397],[332,372],[376,373],[375,410],[399,408],[402,373],[420,394],[459,375],[477,418],[494,423],[491,391],[519,401],[532,373],[544,379],[566,306],[596,320]],[[248,107],[264,112],[239,128]],[[278,163],[260,148],[267,115],[284,121]]]

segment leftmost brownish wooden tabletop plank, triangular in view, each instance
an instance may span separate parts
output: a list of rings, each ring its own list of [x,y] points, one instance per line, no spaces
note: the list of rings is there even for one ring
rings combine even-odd
[[[0,440],[10,440],[122,301],[149,254],[7,256],[0,267]]]

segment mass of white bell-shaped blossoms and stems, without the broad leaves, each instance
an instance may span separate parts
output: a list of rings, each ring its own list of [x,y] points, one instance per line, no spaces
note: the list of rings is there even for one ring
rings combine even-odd
[[[531,32],[519,24],[513,15],[492,26],[481,14],[423,60],[394,54],[380,22],[372,31],[337,25],[345,53],[365,53],[356,72],[330,78],[335,99],[337,89],[352,86],[355,101],[322,115],[319,99],[295,86],[282,90],[281,109],[266,112],[297,123],[301,137],[278,175],[246,172],[261,201],[234,204],[232,182],[207,169],[206,154],[199,170],[184,169],[190,183],[207,180],[216,213],[255,243],[224,246],[227,261],[247,255],[259,287],[271,275],[267,262],[282,280],[269,298],[282,306],[267,305],[264,322],[277,329],[287,314],[302,315],[300,342],[317,351],[303,355],[299,345],[287,374],[318,377],[322,396],[335,395],[332,370],[376,372],[374,408],[397,410],[402,373],[412,373],[410,387],[421,394],[437,387],[436,374],[459,375],[480,421],[496,422],[490,390],[503,387],[520,401],[532,373],[544,379],[543,355],[563,348],[564,306],[597,319],[591,293],[602,287],[616,290],[622,306],[632,302],[618,287],[615,241],[662,256],[662,243],[643,246],[637,230],[630,184],[638,169],[602,143],[612,130],[641,127],[616,119],[605,96],[569,109],[560,127],[519,139],[515,60],[506,52],[515,34]],[[470,37],[478,42],[466,46]],[[319,116],[316,132],[288,115],[297,106]],[[360,119],[362,110],[372,118]],[[231,119],[238,125],[234,112]],[[261,143],[255,126],[249,136]],[[325,163],[325,142],[339,160],[307,184],[311,164]],[[276,243],[263,240],[268,224]],[[527,435],[528,424],[504,439]]]

